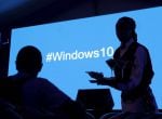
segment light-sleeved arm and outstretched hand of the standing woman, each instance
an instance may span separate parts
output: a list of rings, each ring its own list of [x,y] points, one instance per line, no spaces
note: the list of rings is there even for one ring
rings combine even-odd
[[[130,91],[136,88],[137,85],[139,85],[139,83],[141,82],[146,61],[147,61],[146,51],[143,48],[138,47],[135,53],[135,60],[134,60],[134,65],[131,71],[131,77],[127,82],[121,82],[121,81],[119,82],[116,79],[116,77],[112,77],[112,78],[104,77],[104,75],[100,72],[90,71],[89,75],[92,78],[96,79],[92,81],[96,82],[97,84],[110,85],[121,91]]]

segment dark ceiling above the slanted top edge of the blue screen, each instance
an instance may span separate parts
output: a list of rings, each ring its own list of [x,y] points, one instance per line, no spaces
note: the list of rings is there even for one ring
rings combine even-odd
[[[162,0],[0,0],[0,26],[23,27],[161,5]]]

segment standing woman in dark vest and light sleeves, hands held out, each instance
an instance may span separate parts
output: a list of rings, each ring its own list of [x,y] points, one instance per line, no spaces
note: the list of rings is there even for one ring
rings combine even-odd
[[[114,70],[114,77],[107,78],[95,71],[89,71],[89,75],[96,79],[94,81],[97,84],[110,85],[122,92],[123,113],[157,113],[157,103],[149,87],[153,77],[150,55],[147,48],[137,42],[135,28],[135,21],[126,16],[119,18],[116,24],[121,45],[113,58],[106,61]]]

